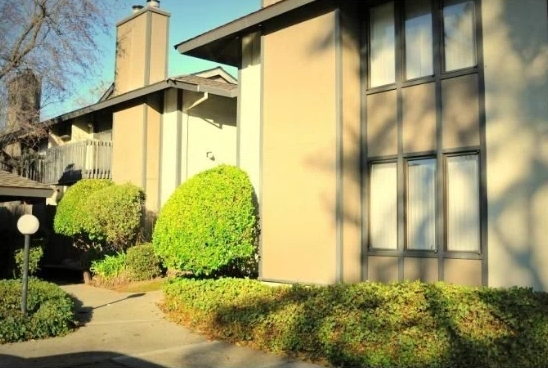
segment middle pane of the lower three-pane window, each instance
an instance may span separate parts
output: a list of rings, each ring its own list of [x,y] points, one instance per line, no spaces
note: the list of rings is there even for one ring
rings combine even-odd
[[[436,249],[436,160],[408,163],[407,248]]]

